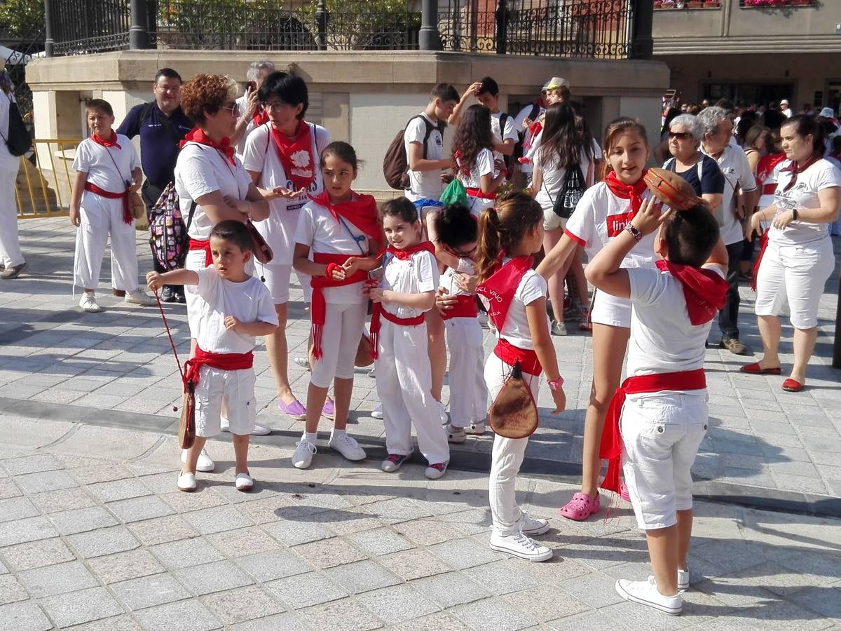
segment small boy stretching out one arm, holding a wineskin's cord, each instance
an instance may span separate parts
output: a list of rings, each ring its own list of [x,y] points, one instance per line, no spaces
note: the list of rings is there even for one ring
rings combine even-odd
[[[244,224],[220,221],[210,232],[213,265],[146,274],[153,291],[164,284],[183,284],[195,295],[196,326],[191,332],[196,353],[185,369],[195,386],[196,439],[178,475],[179,490],[196,490],[198,454],[209,437],[222,431],[223,404],[234,442],[236,490],[254,486],[248,472],[248,437],[257,420],[254,338],[271,335],[278,328],[278,314],[266,286],[246,272],[252,247]]]

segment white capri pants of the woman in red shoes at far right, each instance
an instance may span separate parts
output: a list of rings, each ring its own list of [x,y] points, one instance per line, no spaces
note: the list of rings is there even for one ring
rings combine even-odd
[[[834,268],[828,237],[805,246],[769,241],[756,277],[756,315],[779,315],[788,304],[791,326],[814,328],[823,288]]]

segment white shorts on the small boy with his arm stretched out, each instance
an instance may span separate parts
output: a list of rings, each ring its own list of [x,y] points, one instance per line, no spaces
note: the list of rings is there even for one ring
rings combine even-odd
[[[202,366],[196,386],[196,436],[205,438],[222,431],[222,400],[230,421],[230,432],[245,436],[254,431],[257,421],[257,399],[254,369],[220,370]]]

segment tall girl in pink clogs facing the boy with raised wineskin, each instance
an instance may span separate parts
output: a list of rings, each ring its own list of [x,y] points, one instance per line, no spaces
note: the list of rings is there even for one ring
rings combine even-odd
[[[606,178],[584,191],[569,218],[558,245],[537,266],[537,273],[549,278],[571,256],[584,247],[590,260],[637,215],[651,194],[643,182],[645,164],[651,150],[643,124],[621,118],[605,130]],[[628,252],[623,268],[654,268],[654,235],[641,236]],[[558,509],[568,519],[583,521],[600,511],[598,476],[601,469],[599,444],[605,427],[607,406],[621,379],[631,330],[631,302],[596,291],[590,306],[593,326],[593,385],[584,416],[584,455],[581,490]],[[627,490],[621,488],[627,500]]]

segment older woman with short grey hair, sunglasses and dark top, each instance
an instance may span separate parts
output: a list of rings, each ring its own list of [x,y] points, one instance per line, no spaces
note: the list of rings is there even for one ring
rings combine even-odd
[[[695,194],[717,209],[722,203],[724,175],[715,160],[701,153],[704,126],[697,116],[680,114],[669,124],[669,153],[663,168],[690,183]]]

